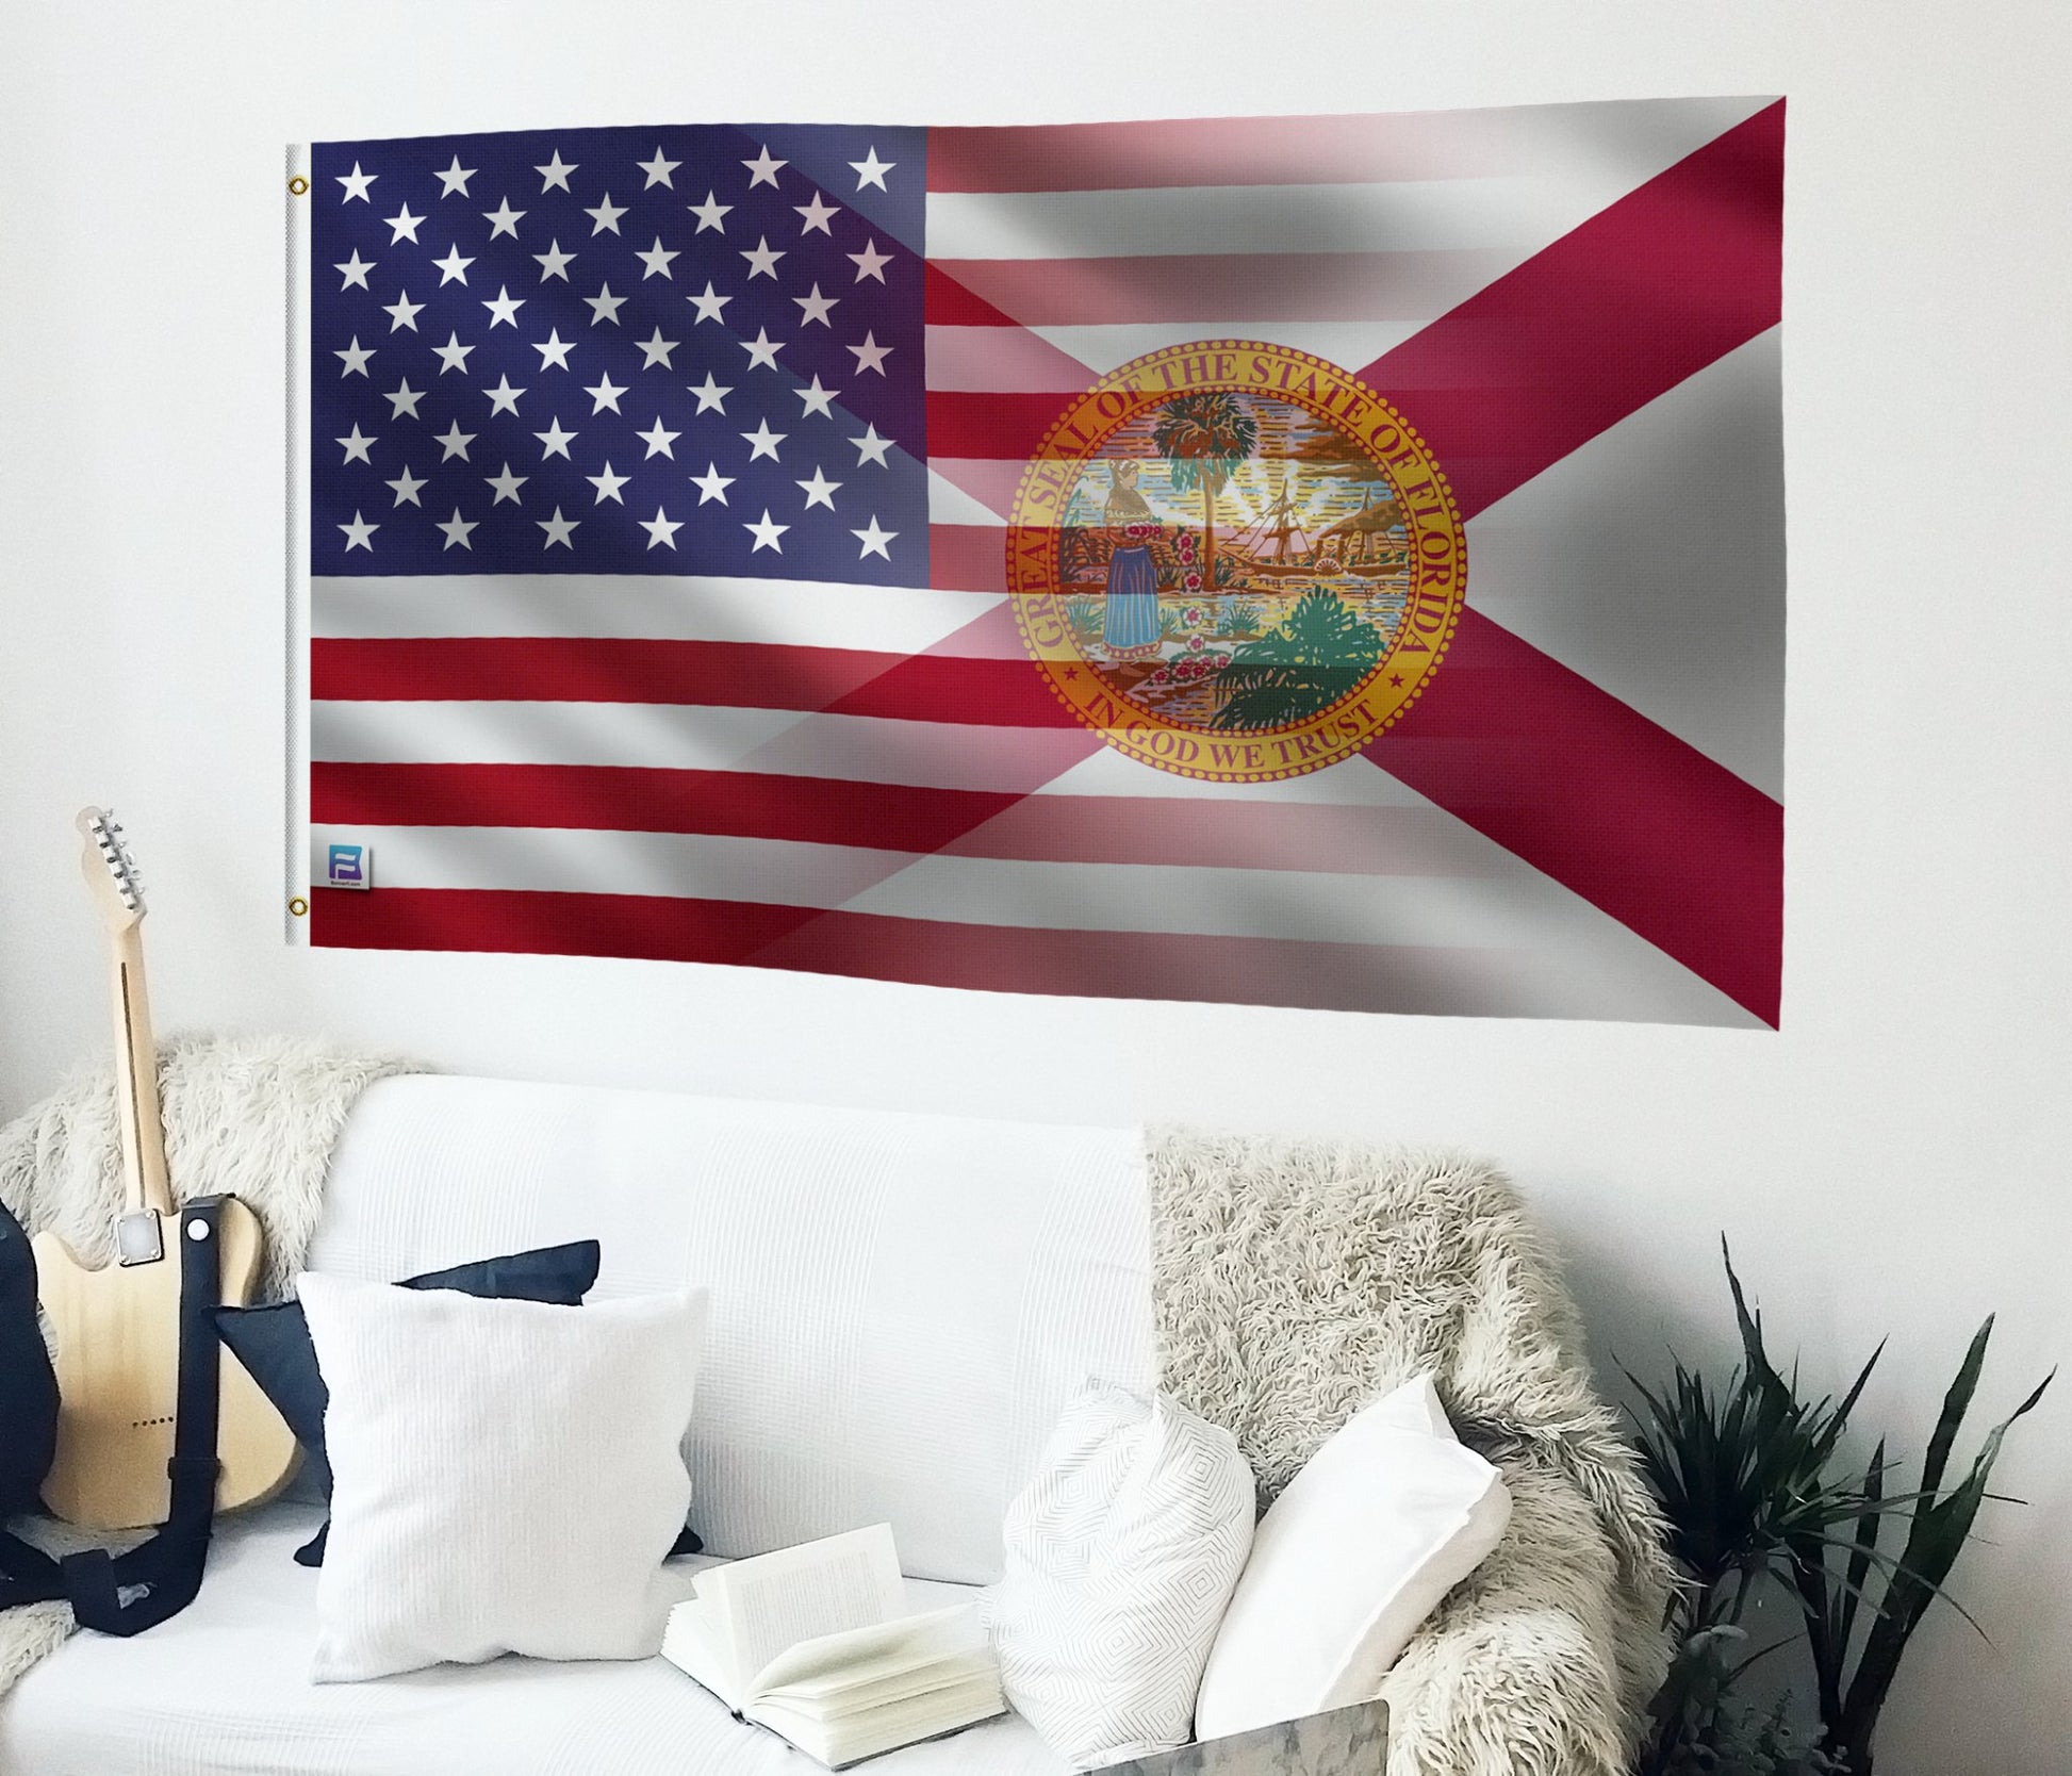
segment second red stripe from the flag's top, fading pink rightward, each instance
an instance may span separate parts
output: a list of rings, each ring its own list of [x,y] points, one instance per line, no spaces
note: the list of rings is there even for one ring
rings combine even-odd
[[[1407,321],[1508,263],[1494,249],[937,259],[930,269],[1026,327]],[[945,305],[947,307],[947,305]],[[930,325],[959,325],[928,311]],[[970,325],[999,325],[972,321]],[[1092,377],[1088,377],[1092,381]]]

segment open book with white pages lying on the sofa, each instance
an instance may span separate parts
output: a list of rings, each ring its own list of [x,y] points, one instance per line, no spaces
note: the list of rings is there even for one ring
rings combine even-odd
[[[831,1770],[1007,1712],[970,1604],[905,1614],[889,1523],[700,1573],[661,1656]]]

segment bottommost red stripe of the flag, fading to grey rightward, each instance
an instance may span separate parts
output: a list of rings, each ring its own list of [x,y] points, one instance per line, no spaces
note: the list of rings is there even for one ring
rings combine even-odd
[[[1185,933],[1040,930],[765,901],[518,889],[317,889],[311,943],[729,962],[1098,999],[1504,1015],[1533,957]],[[1484,984],[1494,982],[1494,984]],[[1529,984],[1529,980],[1527,980]]]

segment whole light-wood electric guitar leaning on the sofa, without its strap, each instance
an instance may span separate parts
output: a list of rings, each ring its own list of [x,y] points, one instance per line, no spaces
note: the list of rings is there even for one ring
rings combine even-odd
[[[122,829],[99,808],[79,814],[79,866],[108,928],[116,1024],[116,1113],[122,1123],[124,1212],[116,1262],[89,1270],[54,1233],[37,1235],[44,1314],[56,1337],[58,1455],[44,1502],[85,1529],[143,1529],[170,1502],[166,1461],[180,1378],[180,1210],[166,1181],[157,1117],[157,1047],[143,989],[143,881]],[[218,1258],[222,1299],[251,1299],[261,1256],[259,1219],[226,1198]],[[242,1364],[222,1353],[215,1509],[271,1498],[294,1473],[294,1434]]]

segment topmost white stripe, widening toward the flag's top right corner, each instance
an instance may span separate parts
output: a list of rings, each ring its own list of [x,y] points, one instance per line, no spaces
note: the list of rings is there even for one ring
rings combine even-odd
[[[1508,178],[928,193],[928,257],[1537,251],[1527,242],[1566,234],[1765,104],[1664,99],[1521,112],[1510,122],[1529,131],[1519,147],[1533,172]]]

